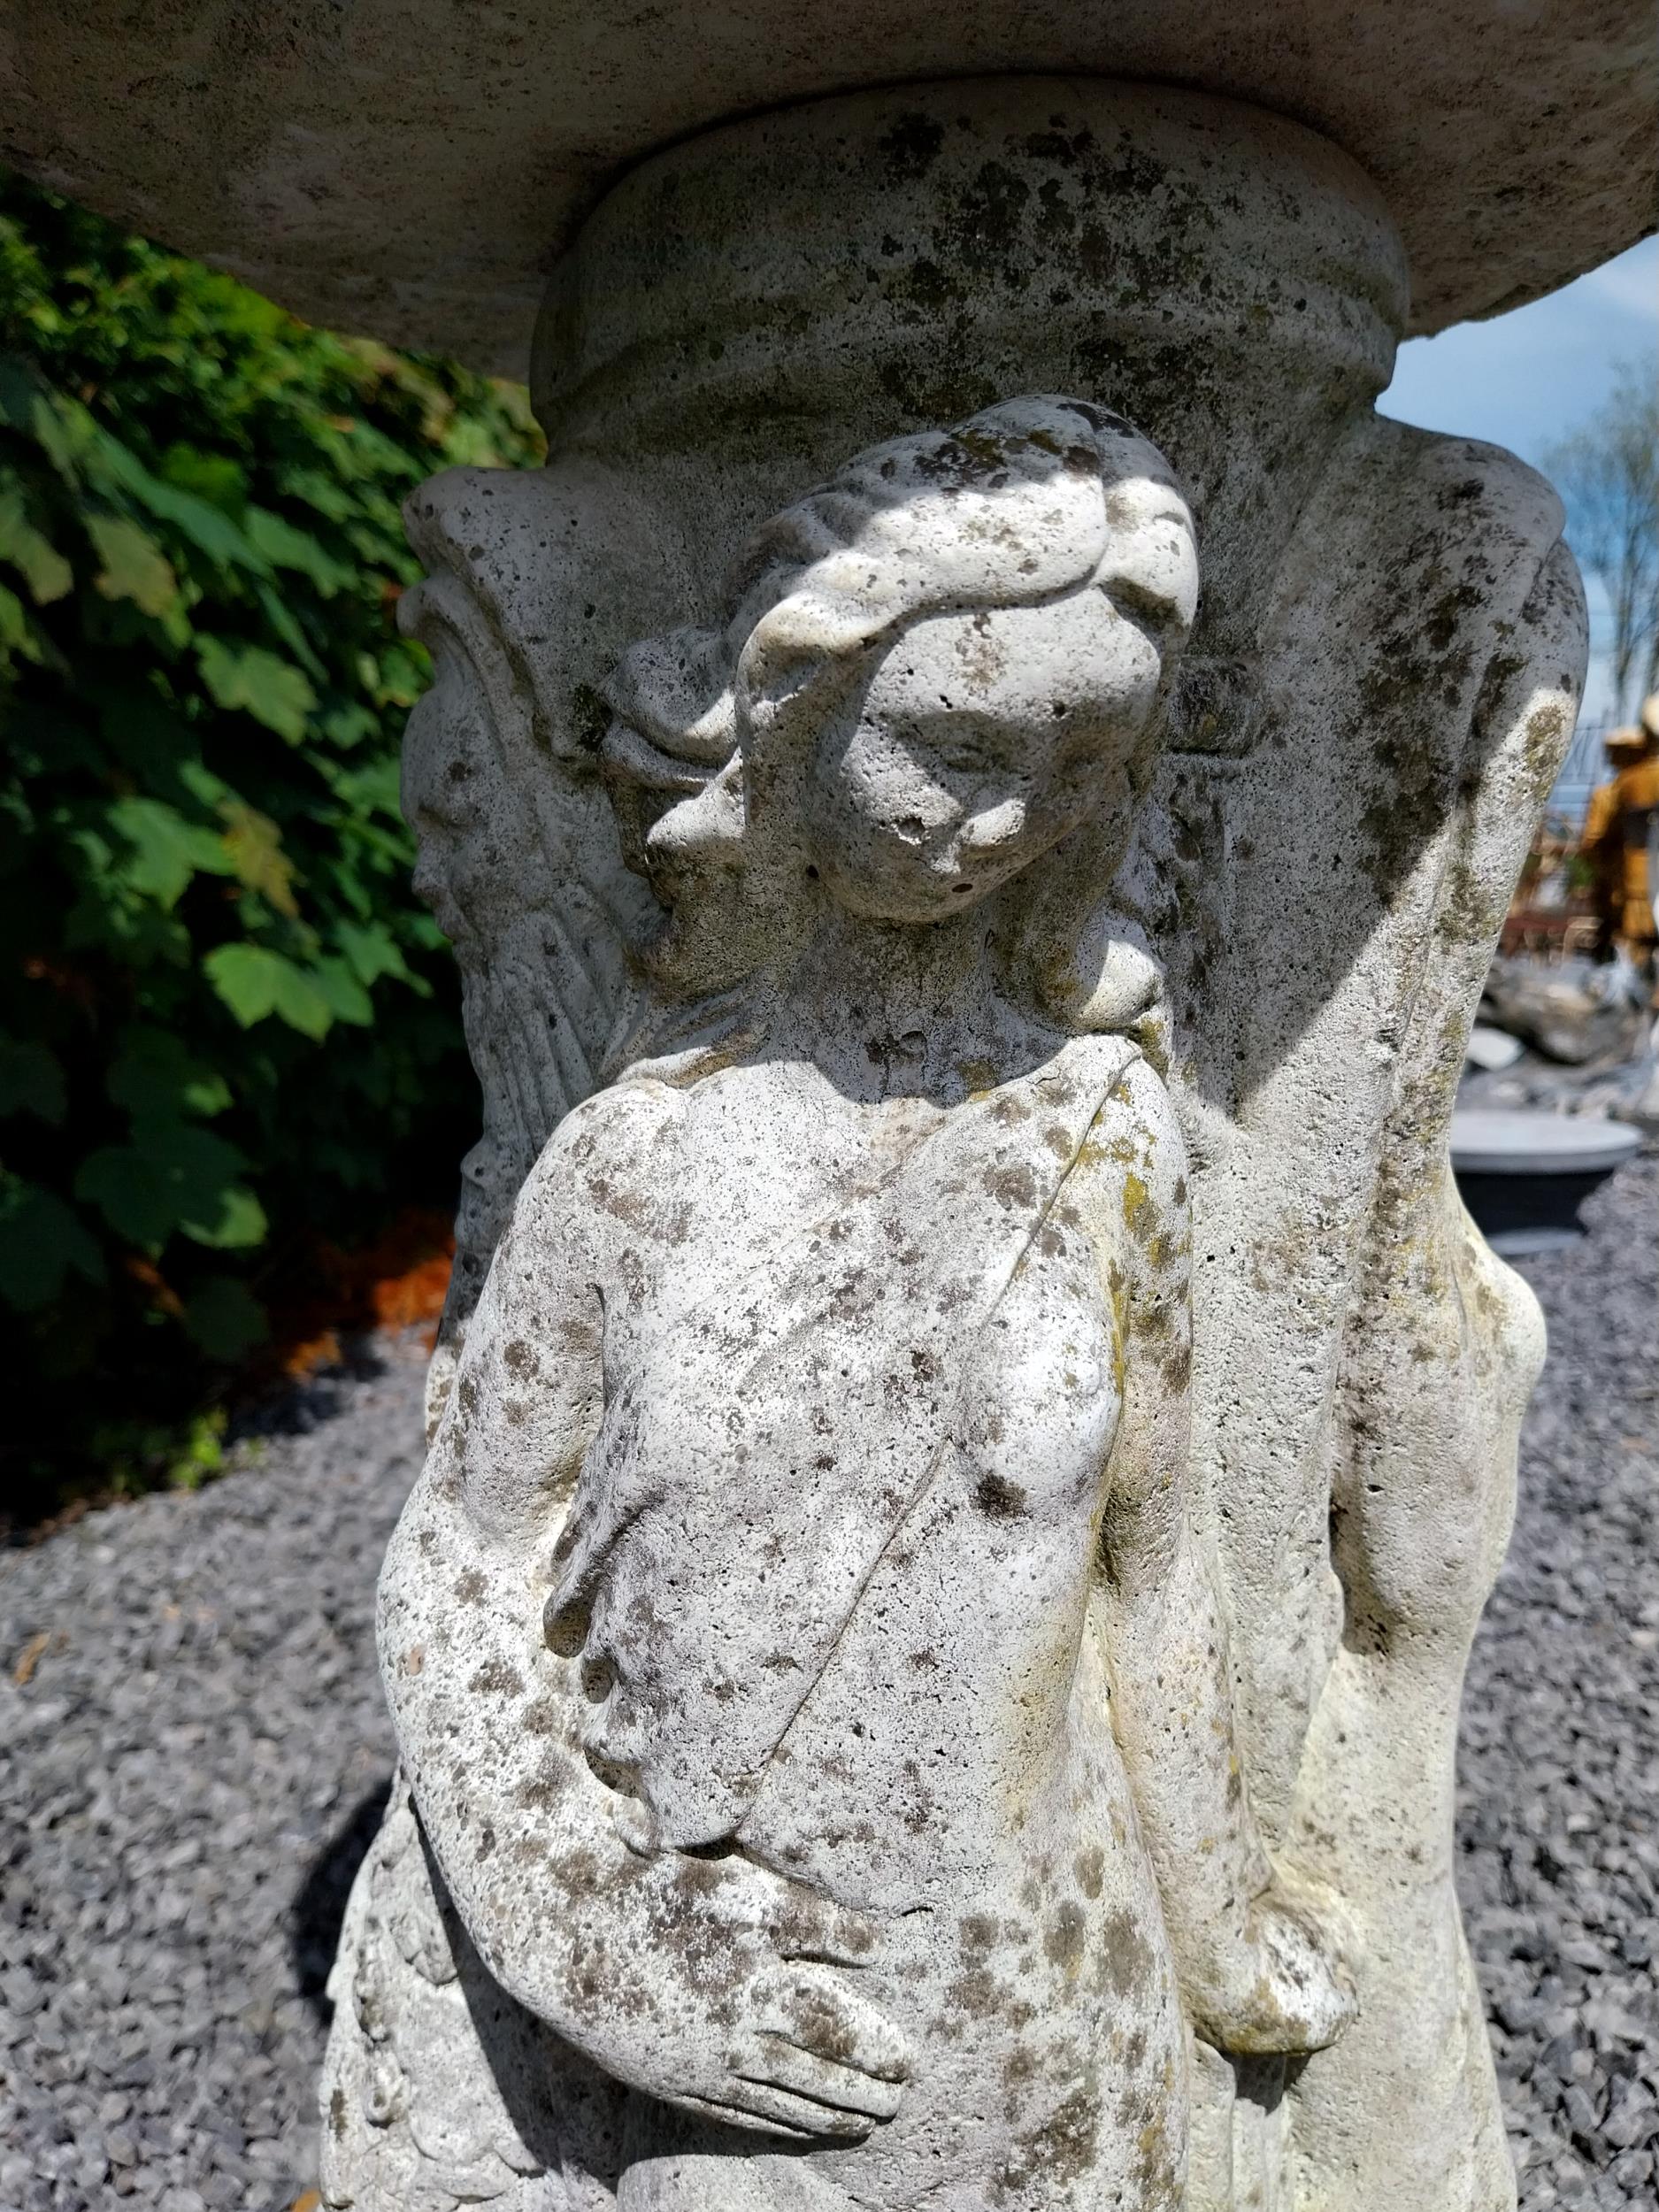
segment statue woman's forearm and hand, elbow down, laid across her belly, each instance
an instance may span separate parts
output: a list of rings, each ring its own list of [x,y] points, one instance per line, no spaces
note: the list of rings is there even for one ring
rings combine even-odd
[[[460,1628],[456,1579],[498,1593]],[[869,2135],[909,2070],[856,1986],[876,1929],[739,1854],[630,1843],[635,1801],[580,1750],[573,1663],[526,1666],[535,1595],[429,1469],[387,1551],[380,1652],[420,1820],[484,1966],[666,2104],[796,2141]]]

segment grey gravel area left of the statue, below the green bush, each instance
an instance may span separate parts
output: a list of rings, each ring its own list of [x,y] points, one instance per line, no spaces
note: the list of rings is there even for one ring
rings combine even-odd
[[[0,2212],[288,2212],[316,2181],[323,1978],[392,1772],[372,1593],[422,1365],[378,1343],[212,1486],[0,1553]]]

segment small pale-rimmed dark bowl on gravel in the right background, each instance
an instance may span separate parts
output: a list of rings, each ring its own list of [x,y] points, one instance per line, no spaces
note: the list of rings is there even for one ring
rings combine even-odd
[[[1557,1252],[1579,1206],[1641,1150],[1641,1130],[1588,1115],[1471,1110],[1451,1117],[1451,1166],[1493,1252]]]

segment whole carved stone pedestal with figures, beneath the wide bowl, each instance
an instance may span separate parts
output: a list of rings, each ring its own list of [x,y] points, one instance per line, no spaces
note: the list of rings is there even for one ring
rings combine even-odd
[[[1451,1761],[1540,1327],[1447,1126],[1584,606],[1371,414],[1405,319],[1276,117],[858,95],[613,192],[546,471],[411,502],[487,1141],[336,2201],[456,2201],[434,2039],[526,2208],[1513,2201]]]

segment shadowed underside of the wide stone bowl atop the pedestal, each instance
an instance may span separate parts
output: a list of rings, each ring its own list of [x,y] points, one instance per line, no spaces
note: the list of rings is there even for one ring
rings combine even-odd
[[[0,53],[7,161],[314,321],[515,372],[617,175],[872,80],[1135,77],[1307,124],[1394,208],[1413,330],[1548,292],[1655,223],[1639,0],[7,0]]]

